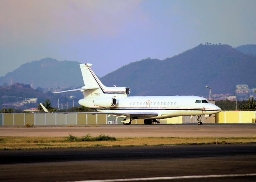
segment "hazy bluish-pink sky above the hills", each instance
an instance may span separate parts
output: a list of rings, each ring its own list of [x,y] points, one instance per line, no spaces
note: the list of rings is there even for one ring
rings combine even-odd
[[[206,42],[256,44],[256,0],[0,0],[0,76],[45,57],[104,76]]]

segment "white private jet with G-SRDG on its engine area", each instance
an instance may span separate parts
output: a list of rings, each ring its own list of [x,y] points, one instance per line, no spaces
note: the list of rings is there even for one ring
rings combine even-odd
[[[144,119],[144,124],[150,125],[152,122],[159,123],[156,119],[193,115],[198,115],[198,125],[202,125],[203,115],[207,117],[221,111],[218,106],[197,96],[128,97],[128,87],[106,87],[92,71],[91,66],[90,63],[80,64],[85,86],[54,93],[81,91],[84,99],[80,99],[78,103],[98,111],[91,114],[122,117],[124,125],[130,125],[134,119]],[[42,104],[41,106],[48,112]]]

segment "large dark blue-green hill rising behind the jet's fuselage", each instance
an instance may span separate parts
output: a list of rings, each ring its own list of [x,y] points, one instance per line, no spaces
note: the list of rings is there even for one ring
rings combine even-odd
[[[255,87],[256,58],[230,45],[198,45],[165,60],[144,59],[101,78],[106,86],[128,86],[131,95],[234,93],[237,84]]]

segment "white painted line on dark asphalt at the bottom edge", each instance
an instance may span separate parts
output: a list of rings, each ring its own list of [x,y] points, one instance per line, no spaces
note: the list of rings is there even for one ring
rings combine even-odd
[[[222,177],[239,177],[239,176],[256,176],[256,173],[251,173],[251,174],[210,174],[210,175],[194,175],[194,176],[166,176],[166,177],[151,177],[151,178],[109,179],[109,180],[82,180],[82,181],[72,181],[72,182],[122,182],[122,181],[176,180],[176,179],[190,179],[190,178],[222,178]]]

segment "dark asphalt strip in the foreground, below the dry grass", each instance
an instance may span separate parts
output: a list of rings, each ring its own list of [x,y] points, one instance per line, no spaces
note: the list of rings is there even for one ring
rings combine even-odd
[[[256,144],[0,151],[1,182],[254,173],[256,173]],[[200,179],[159,181],[240,182],[256,181],[256,175],[218,178],[208,176]]]

